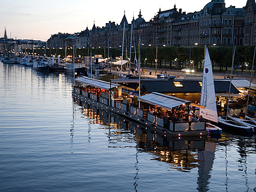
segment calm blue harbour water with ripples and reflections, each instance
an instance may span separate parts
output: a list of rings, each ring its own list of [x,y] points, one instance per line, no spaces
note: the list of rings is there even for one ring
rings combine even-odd
[[[255,137],[173,141],[0,62],[0,191],[256,191]]]

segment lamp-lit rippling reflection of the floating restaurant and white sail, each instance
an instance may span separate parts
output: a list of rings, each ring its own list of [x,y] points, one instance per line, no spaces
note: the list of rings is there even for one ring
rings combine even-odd
[[[151,160],[170,164],[170,170],[191,172],[199,169],[198,190],[207,191],[209,172],[214,161],[215,143],[206,139],[172,139],[169,135],[159,133],[156,129],[129,121],[108,110],[101,110],[86,102],[75,100],[81,107],[82,115],[89,120],[89,124],[100,124],[101,129],[108,129],[106,133],[109,148],[136,147],[135,155],[135,191],[139,175],[138,154],[146,152],[152,154]]]

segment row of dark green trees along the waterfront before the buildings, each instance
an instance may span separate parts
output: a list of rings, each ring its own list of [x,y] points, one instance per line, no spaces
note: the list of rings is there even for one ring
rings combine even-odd
[[[232,67],[232,55],[234,47],[225,47],[225,46],[210,46],[208,47],[208,51],[210,54],[210,59],[214,65],[220,67],[220,71],[226,71],[228,67]],[[27,50],[28,52],[32,51],[31,49]],[[92,51],[92,56],[94,55],[102,55],[102,57],[108,57],[108,49],[107,48],[77,48],[75,49],[75,57],[90,57],[90,51]],[[205,54],[204,46],[193,46],[189,47],[158,47],[158,48],[144,48],[141,46],[141,63],[150,66],[156,65],[156,52],[157,52],[157,66],[158,68],[163,68],[164,63],[173,63],[176,62],[176,68],[181,69],[185,66],[185,63],[188,63],[191,59],[194,63],[195,70],[199,70],[203,68],[203,59]],[[34,50],[34,53],[38,53],[38,55],[44,55],[50,57],[51,55],[60,55],[60,57],[65,57],[65,49],[46,49],[42,53],[42,49]],[[253,62],[253,53],[254,46],[236,46],[235,51],[235,59],[234,66],[245,65],[245,63],[249,63],[248,67],[251,69],[251,65]],[[67,55],[73,55],[73,49],[67,49]],[[130,53],[129,49],[125,48],[123,53],[123,58],[128,59]],[[139,51],[137,49],[137,60],[139,61]],[[121,57],[121,48],[110,48],[109,49],[109,57]],[[135,51],[132,49],[131,53],[131,61],[135,62]],[[171,65],[168,65],[171,67]],[[243,67],[241,68],[243,70]]]

